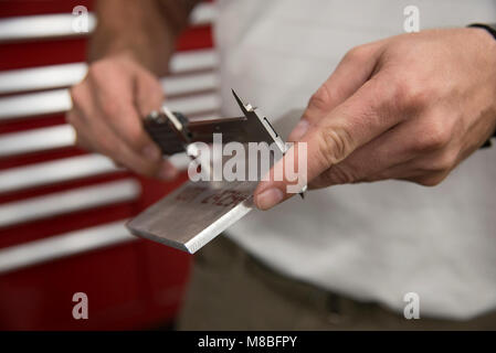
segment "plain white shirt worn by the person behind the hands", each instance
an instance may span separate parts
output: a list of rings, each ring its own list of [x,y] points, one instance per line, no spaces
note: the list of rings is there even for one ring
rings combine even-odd
[[[223,114],[231,87],[277,118],[305,107],[351,47],[421,29],[496,22],[496,1],[221,0],[215,42]],[[252,212],[231,237],[275,270],[358,300],[421,315],[471,318],[496,307],[496,147],[476,151],[439,186],[339,185]]]

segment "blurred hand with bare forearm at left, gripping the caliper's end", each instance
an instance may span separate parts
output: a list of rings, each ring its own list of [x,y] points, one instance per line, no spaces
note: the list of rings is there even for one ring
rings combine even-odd
[[[80,147],[106,154],[136,173],[172,179],[141,126],[165,95],[156,75],[167,72],[178,33],[196,0],[102,0],[91,39],[86,77],[71,89],[66,120]]]

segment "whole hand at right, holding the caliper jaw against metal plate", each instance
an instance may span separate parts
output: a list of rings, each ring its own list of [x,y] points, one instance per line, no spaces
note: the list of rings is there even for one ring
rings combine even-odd
[[[289,140],[307,143],[310,189],[388,179],[432,186],[495,128],[496,41],[482,29],[431,30],[348,52]],[[291,197],[287,184],[262,181],[255,204]]]

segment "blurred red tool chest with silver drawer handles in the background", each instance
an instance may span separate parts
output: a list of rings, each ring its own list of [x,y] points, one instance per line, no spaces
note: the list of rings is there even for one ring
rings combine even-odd
[[[173,328],[191,257],[138,239],[125,222],[180,185],[73,146],[67,87],[86,72],[89,0],[0,0],[0,330]],[[88,10],[88,33],[73,9]],[[219,107],[212,2],[197,7],[162,79],[191,117]],[[177,158],[175,163],[183,165]],[[73,295],[89,318],[72,315]]]

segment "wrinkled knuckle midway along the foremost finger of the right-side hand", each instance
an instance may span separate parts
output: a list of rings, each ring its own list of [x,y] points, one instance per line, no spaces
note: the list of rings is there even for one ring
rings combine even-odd
[[[351,136],[344,128],[327,127],[320,130],[320,162],[330,167],[342,161],[351,151]]]

